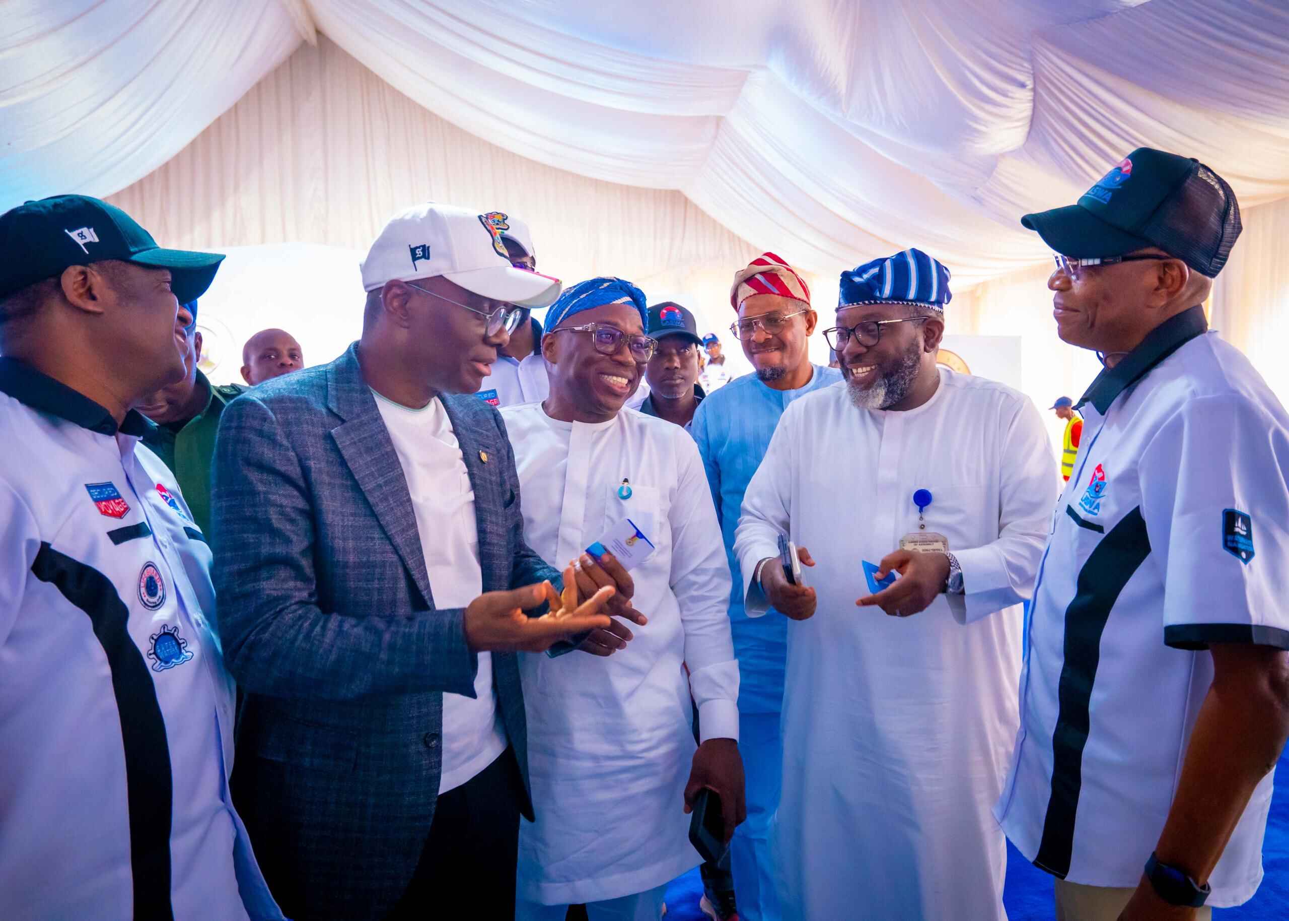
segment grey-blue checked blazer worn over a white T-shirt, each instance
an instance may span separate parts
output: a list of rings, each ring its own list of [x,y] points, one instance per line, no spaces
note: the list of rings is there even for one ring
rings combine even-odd
[[[483,591],[557,580],[523,540],[500,414],[473,395],[442,401],[474,489]],[[269,887],[293,918],[384,917],[434,818],[443,691],[474,697],[477,659],[464,610],[434,606],[356,344],[228,405],[211,517],[217,628],[245,695],[233,796]],[[516,655],[495,653],[492,669],[527,789]]]

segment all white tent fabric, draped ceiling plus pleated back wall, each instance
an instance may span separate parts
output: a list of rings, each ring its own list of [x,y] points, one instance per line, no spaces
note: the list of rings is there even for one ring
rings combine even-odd
[[[4,12],[0,209],[112,195],[169,245],[362,250],[416,200],[504,208],[562,277],[710,295],[713,326],[762,249],[806,270],[828,311],[840,270],[915,245],[954,272],[951,332],[1054,341],[1048,252],[1020,215],[1152,146],[1235,188],[1245,239],[1210,307],[1272,377],[1259,339],[1289,308],[1283,0]]]

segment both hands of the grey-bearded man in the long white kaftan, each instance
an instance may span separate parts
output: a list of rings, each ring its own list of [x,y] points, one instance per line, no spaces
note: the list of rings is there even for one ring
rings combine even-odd
[[[803,566],[813,566],[809,551],[797,548]],[[875,595],[865,595],[855,604],[860,608],[877,606],[892,617],[910,617],[931,606],[944,591],[949,578],[949,557],[944,553],[919,553],[897,550],[882,557],[874,578],[884,579],[888,573],[900,573],[893,584]],[[761,584],[775,610],[793,620],[806,620],[815,615],[816,596],[809,586],[794,586],[784,575],[779,557],[768,557],[761,566]]]

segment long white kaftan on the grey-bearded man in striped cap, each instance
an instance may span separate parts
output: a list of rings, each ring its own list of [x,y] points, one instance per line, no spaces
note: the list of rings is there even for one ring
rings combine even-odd
[[[750,577],[786,533],[819,605],[788,628],[784,780],[772,847],[784,918],[994,921],[1005,844],[990,810],[1014,742],[1021,608],[1056,497],[1038,410],[947,369],[907,411],[839,383],[791,404],[748,486],[735,553]],[[861,561],[918,530],[949,539],[965,596],[906,618],[857,608]],[[748,613],[766,610],[758,586]],[[773,614],[773,617],[781,617]]]

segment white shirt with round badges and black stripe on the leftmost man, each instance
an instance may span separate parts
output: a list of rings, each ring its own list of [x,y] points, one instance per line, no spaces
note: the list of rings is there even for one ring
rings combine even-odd
[[[210,551],[98,404],[0,359],[0,917],[281,918],[228,793]]]

